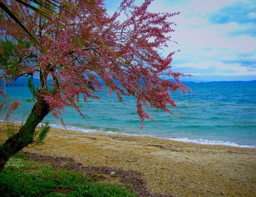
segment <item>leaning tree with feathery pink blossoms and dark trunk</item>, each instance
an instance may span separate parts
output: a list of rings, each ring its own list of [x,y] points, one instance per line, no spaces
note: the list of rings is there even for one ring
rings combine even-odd
[[[63,121],[65,106],[73,106],[83,116],[79,96],[83,95],[84,102],[100,99],[96,94],[103,87],[99,79],[110,95],[116,93],[119,102],[124,96],[135,97],[142,127],[145,120],[153,120],[146,109],[172,114],[176,104],[170,92],[180,89],[185,93],[188,88],[180,82],[179,77],[184,75],[171,70],[174,52],[162,57],[159,51],[172,42],[168,34],[175,24],[169,19],[178,13],[150,13],[147,9],[152,1],[135,6],[133,0],[123,0],[113,15],[108,15],[103,0],[76,0],[65,9],[62,4],[48,4],[65,15],[52,19],[9,3],[47,53],[1,13],[1,78],[13,81],[21,76],[38,76],[40,86],[30,84],[34,107],[20,131],[0,146],[0,171],[11,155],[33,142],[36,126],[48,113]],[[118,20],[124,16],[126,20]],[[2,98],[7,96],[4,91],[0,93]],[[16,107],[18,102],[14,101],[9,113]]]

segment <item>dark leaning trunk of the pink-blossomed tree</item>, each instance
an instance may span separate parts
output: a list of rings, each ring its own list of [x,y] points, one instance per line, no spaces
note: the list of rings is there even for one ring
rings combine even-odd
[[[4,169],[4,165],[11,155],[18,153],[32,142],[36,126],[49,112],[48,104],[42,97],[38,97],[27,121],[20,128],[20,131],[0,146],[0,172]]]

